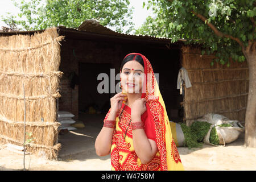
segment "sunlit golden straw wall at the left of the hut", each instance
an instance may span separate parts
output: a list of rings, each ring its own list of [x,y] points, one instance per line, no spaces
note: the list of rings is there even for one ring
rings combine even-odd
[[[27,150],[49,159],[60,150],[56,98],[61,39],[56,28],[31,36],[0,36],[0,142],[23,145],[25,92],[26,132],[34,138]]]

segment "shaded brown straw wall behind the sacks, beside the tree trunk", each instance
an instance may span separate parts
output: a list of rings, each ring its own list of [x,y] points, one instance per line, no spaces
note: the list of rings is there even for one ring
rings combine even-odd
[[[249,73],[246,61],[230,61],[230,67],[210,65],[213,55],[201,56],[200,48],[184,46],[182,65],[187,69],[192,87],[185,88],[184,121],[191,125],[207,113],[221,114],[245,122]]]

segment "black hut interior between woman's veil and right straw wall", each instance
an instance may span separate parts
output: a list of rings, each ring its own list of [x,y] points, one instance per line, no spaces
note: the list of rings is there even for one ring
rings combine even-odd
[[[154,52],[154,51],[152,51]],[[158,75],[158,85],[162,94],[168,118],[172,122],[183,122],[183,94],[177,89],[177,76],[181,65],[179,48],[160,49],[154,55],[146,53],[154,73]]]

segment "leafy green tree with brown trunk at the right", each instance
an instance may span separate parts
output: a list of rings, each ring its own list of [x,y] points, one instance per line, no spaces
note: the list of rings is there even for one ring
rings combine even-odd
[[[143,6],[145,3],[143,3]],[[156,17],[148,17],[136,34],[186,39],[198,43],[201,54],[229,67],[233,61],[247,61],[249,93],[245,118],[245,145],[256,147],[256,2],[251,0],[149,0]]]

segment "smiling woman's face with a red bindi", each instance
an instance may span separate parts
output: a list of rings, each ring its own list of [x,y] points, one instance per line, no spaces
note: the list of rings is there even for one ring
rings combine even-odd
[[[127,93],[142,93],[144,68],[138,61],[128,61],[123,65],[121,84]]]

